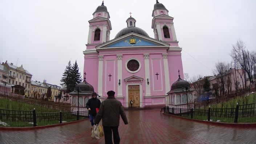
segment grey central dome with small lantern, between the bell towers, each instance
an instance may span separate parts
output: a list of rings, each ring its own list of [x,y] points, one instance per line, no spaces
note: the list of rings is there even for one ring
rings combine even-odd
[[[126,20],[126,23],[127,23],[127,28],[120,30],[115,36],[115,38],[121,37],[128,33],[137,33],[137,34],[141,34],[142,36],[149,37],[149,35],[143,29],[135,27],[136,20],[133,17],[130,16]]]

